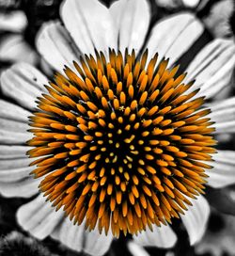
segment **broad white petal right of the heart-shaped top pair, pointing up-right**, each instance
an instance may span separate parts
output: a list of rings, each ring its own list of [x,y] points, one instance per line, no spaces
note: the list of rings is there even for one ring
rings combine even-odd
[[[203,25],[193,14],[180,13],[156,24],[152,30],[146,48],[149,57],[159,53],[159,61],[169,57],[173,64],[203,33]]]

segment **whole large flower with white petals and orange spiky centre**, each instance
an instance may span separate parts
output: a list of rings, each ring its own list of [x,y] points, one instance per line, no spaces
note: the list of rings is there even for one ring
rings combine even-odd
[[[211,40],[185,76],[177,61],[204,32],[191,13],[170,16],[149,33],[146,0],[120,0],[110,8],[96,0],[68,0],[61,18],[65,26],[45,24],[37,40],[39,53],[57,71],[50,86],[44,88],[49,78],[25,63],[1,75],[12,103],[0,101],[0,192],[28,198],[40,186],[58,211],[39,193],[19,208],[19,224],[39,239],[51,235],[91,255],[105,253],[120,230],[134,233],[140,246],[172,247],[175,232],[170,225],[158,227],[172,216],[180,216],[195,244],[210,214],[199,195],[204,177],[215,187],[235,182],[235,152],[218,151],[211,161],[211,133],[234,132],[234,98],[208,101],[229,85],[233,41]],[[33,137],[25,132],[28,124]]]

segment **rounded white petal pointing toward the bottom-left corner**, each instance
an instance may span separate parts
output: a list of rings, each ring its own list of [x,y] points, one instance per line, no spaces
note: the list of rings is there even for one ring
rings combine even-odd
[[[21,206],[17,212],[17,220],[23,229],[38,239],[50,235],[64,216],[63,211],[55,212],[49,201],[40,194]]]

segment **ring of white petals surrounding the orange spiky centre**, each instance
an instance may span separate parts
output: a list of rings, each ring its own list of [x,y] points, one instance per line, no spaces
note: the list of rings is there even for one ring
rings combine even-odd
[[[147,0],[119,0],[110,8],[99,1],[67,0],[61,8],[61,18],[65,26],[58,22],[43,25],[39,32],[37,47],[41,56],[57,72],[63,73],[64,65],[74,70],[73,61],[80,63],[81,55],[96,56],[94,48],[102,51],[108,58],[108,49],[119,50],[123,55],[126,48],[129,52],[140,49],[149,50],[149,57],[159,53],[159,61],[169,57],[169,66],[190,50],[190,47],[203,34],[204,27],[190,13],[180,13],[154,24],[149,38],[146,36],[150,24],[150,11]],[[145,42],[146,41],[146,42]],[[193,79],[196,83],[189,92],[200,88],[197,95],[207,100],[229,86],[229,80],[235,63],[235,46],[231,40],[211,40],[199,51],[187,67],[188,75],[184,79],[187,84]],[[36,109],[36,100],[46,89],[43,85],[49,78],[28,64],[20,63],[12,66],[1,76],[3,93],[14,103],[0,100],[0,192],[5,197],[29,198],[37,195],[39,180],[29,176],[34,168],[29,166],[31,159],[25,152],[31,149],[26,142],[31,138],[27,117]],[[206,104],[211,108],[209,117],[215,123],[215,135],[235,132],[235,98],[223,102]],[[223,187],[235,183],[233,170],[235,152],[218,151],[210,162],[212,169],[208,184]],[[203,196],[191,200],[185,215],[180,218],[189,233],[190,243],[194,245],[202,237],[210,206]],[[77,251],[85,251],[91,255],[103,255],[113,239],[112,232],[107,235],[85,230],[85,221],[81,225],[73,225],[64,212],[51,207],[45,202],[42,194],[21,206],[17,213],[19,224],[27,232],[39,239],[48,235],[64,245]],[[170,225],[152,226],[152,232],[133,235],[140,246],[173,247],[177,236]]]

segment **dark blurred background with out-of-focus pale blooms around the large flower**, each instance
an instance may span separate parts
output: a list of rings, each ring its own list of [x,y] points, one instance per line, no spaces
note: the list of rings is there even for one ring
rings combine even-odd
[[[41,24],[59,19],[61,0],[0,0],[0,72],[15,62],[28,62],[44,72],[46,64],[35,49],[35,39]],[[109,6],[111,1],[103,0]],[[235,3],[232,0],[149,0],[152,12],[152,24],[158,20],[183,10],[194,12],[207,28],[201,40],[211,38],[233,38],[235,24]],[[203,45],[205,42],[201,42]],[[200,47],[200,44],[198,44]],[[195,49],[196,51],[196,49]],[[193,54],[192,54],[193,55]],[[181,64],[189,61],[184,56]],[[234,95],[233,87],[229,94]],[[234,149],[235,139],[223,137],[221,149]],[[235,171],[235,170],[234,170]],[[180,221],[173,221],[173,229],[178,233],[179,241],[174,248],[142,248],[130,250],[130,237],[120,237],[113,241],[105,256],[233,256],[235,255],[235,186],[223,189],[207,189],[206,198],[210,200],[211,217],[204,238],[195,247],[190,247],[187,232]],[[23,232],[15,220],[17,208],[31,199],[5,199],[0,195],[0,255],[82,255],[63,247],[47,238],[37,241]]]

